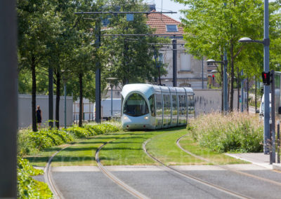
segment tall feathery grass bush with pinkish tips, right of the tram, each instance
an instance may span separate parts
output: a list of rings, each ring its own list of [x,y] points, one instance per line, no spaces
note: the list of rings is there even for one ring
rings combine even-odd
[[[219,113],[200,116],[192,122],[192,137],[211,151],[261,152],[263,124],[247,114]]]

